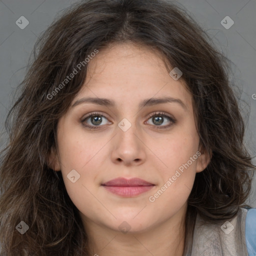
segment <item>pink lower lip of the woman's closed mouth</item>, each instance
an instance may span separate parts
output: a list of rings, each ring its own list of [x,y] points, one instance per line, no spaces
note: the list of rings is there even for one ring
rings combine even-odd
[[[125,197],[135,196],[150,190],[154,185],[148,186],[103,186],[108,191]]]

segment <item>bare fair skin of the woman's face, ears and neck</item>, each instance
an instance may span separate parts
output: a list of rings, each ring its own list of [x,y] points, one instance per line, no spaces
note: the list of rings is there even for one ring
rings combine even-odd
[[[112,99],[116,106],[88,102],[71,106],[88,96]],[[185,108],[177,102],[138,107],[141,100],[165,96],[180,99]],[[80,212],[91,255],[181,256],[187,198],[196,172],[209,162],[199,147],[192,96],[181,78],[174,80],[160,55],[148,47],[111,44],[90,60],[84,85],[71,105],[59,119],[58,154],[52,153],[50,161],[62,172],[67,193]],[[157,125],[149,114],[159,111],[176,121],[164,117]],[[83,123],[98,129],[90,130],[81,122],[91,112],[99,112],[102,122],[95,125],[89,117]],[[123,118],[131,124],[126,131],[118,126]],[[155,201],[149,201],[197,151],[201,155]],[[67,178],[72,169],[80,174],[74,183]],[[139,177],[155,186],[122,197],[101,186],[116,177]],[[126,233],[118,228],[123,221],[130,228]]]

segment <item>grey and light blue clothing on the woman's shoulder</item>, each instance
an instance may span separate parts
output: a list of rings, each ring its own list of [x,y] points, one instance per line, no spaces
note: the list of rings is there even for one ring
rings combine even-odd
[[[214,224],[197,215],[186,256],[256,256],[256,208],[240,208],[232,219]]]

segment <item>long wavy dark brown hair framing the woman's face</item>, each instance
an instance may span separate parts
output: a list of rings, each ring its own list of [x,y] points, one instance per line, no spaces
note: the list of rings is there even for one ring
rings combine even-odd
[[[244,122],[228,79],[228,60],[209,36],[171,2],[84,0],[39,37],[20,96],[6,119],[9,142],[0,166],[2,256],[88,255],[78,210],[61,172],[48,164],[57,146],[58,119],[80,90],[87,65],[83,62],[65,86],[59,84],[95,49],[125,41],[155,49],[167,69],[182,71],[193,96],[200,144],[212,152],[188,198],[185,250],[191,245],[196,213],[205,221],[227,219],[245,202],[255,166],[244,147]],[[29,226],[22,235],[15,228],[20,221]]]

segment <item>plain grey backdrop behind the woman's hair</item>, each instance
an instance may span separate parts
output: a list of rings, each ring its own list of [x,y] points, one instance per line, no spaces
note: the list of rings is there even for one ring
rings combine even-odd
[[[3,121],[13,101],[15,88],[25,74],[29,55],[38,35],[52,20],[76,0],[0,0],[0,145],[6,141]],[[235,82],[242,89],[241,99],[250,107],[246,144],[256,152],[256,0],[179,0],[207,30],[215,45],[232,62]],[[15,23],[24,16],[29,24],[20,29]],[[234,24],[224,28],[220,21],[229,16]],[[224,21],[227,22],[227,21]],[[255,97],[256,98],[256,97]],[[249,111],[249,108],[246,108]],[[254,158],[254,163],[255,158]],[[249,198],[256,207],[256,179]]]

